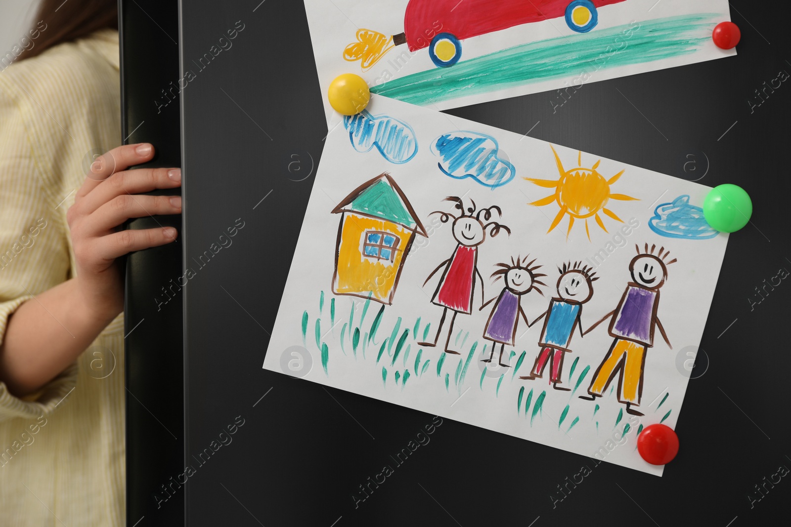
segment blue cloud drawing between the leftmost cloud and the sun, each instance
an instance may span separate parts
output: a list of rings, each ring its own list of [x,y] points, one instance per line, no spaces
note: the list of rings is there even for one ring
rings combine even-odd
[[[500,146],[494,137],[460,130],[437,137],[431,151],[441,156],[438,166],[452,178],[475,179],[492,189],[505,185],[517,175],[509,161],[501,159]]]

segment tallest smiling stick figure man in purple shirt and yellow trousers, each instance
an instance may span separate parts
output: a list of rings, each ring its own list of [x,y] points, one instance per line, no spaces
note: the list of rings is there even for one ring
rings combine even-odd
[[[611,337],[615,337],[607,356],[593,374],[591,386],[588,388],[589,397],[581,395],[581,399],[592,401],[596,397],[601,397],[604,390],[610,386],[610,382],[615,378],[615,374],[620,373],[618,381],[618,400],[626,404],[626,412],[635,416],[642,416],[641,412],[634,410],[631,406],[640,405],[643,386],[643,368],[645,367],[645,348],[653,347],[653,330],[658,327],[662,338],[668,343],[668,348],[673,348],[668,341],[668,335],[664,333],[662,322],[657,317],[659,307],[659,289],[668,278],[667,265],[676,262],[673,258],[667,264],[664,258],[668,257],[670,251],[664,252],[664,247],[660,247],[657,255],[653,254],[656,245],[648,248],[645,244],[645,252],[640,251],[640,247],[634,246],[638,250],[638,255],[632,258],[629,263],[629,272],[632,280],[626,285],[621,301],[615,310],[604,315],[599,322],[596,322],[585,333],[589,333],[593,328],[599,326],[601,322],[611,318],[608,332]],[[585,334],[583,333],[583,334]]]

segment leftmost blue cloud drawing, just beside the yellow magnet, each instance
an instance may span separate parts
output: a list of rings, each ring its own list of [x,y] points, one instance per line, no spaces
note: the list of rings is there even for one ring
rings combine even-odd
[[[349,130],[351,145],[358,152],[377,147],[384,159],[395,164],[406,163],[418,153],[412,127],[388,115],[371,115],[363,110],[357,115],[346,115],[343,126]]]

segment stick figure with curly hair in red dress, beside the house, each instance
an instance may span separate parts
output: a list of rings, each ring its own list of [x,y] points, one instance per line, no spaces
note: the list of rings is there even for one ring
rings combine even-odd
[[[453,218],[452,232],[453,238],[459,244],[453,250],[450,258],[437,265],[423,285],[426,285],[431,277],[443,267],[445,270],[440,278],[440,283],[437,285],[436,291],[431,299],[432,303],[437,306],[442,306],[445,309],[442,311],[442,318],[440,319],[440,326],[437,328],[437,334],[433,342],[419,342],[421,346],[436,346],[442,333],[442,326],[445,323],[445,317],[448,310],[452,311],[450,322],[448,323],[448,338],[445,340],[445,352],[459,355],[448,349],[450,343],[450,336],[453,333],[453,322],[456,321],[456,314],[464,313],[471,314],[472,312],[472,297],[475,295],[475,277],[481,280],[481,303],[483,304],[483,277],[477,267],[478,262],[478,247],[486,239],[486,232],[494,237],[502,230],[511,234],[511,229],[505,225],[498,224],[496,221],[489,221],[492,217],[492,212],[496,211],[498,216],[502,216],[502,211],[497,205],[492,205],[488,209],[480,209],[475,213],[475,201],[472,201],[472,206],[467,207],[467,212],[464,211],[464,201],[456,196],[449,196],[443,201],[453,201],[456,203],[454,208],[459,209],[461,214],[456,216],[452,213],[444,213],[440,210],[434,211],[432,214],[440,214],[440,221],[447,223],[450,218]]]

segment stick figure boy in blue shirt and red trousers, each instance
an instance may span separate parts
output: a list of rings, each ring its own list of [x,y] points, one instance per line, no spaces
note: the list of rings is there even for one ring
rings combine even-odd
[[[571,262],[563,264],[563,268],[558,267],[560,277],[558,278],[558,298],[553,298],[547,308],[531,324],[535,324],[541,318],[544,319],[541,337],[539,337],[539,347],[541,352],[533,364],[530,375],[520,378],[534,379],[542,378],[544,367],[547,362],[551,362],[550,380],[555,390],[570,390],[562,388],[558,384],[563,367],[563,354],[570,352],[569,348],[571,337],[574,330],[579,327],[580,337],[582,337],[582,304],[588,302],[593,296],[593,281],[599,280],[594,277],[596,273],[591,273],[592,267],[581,267],[582,262]]]

